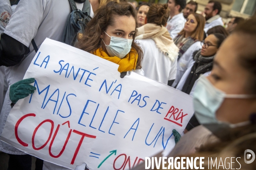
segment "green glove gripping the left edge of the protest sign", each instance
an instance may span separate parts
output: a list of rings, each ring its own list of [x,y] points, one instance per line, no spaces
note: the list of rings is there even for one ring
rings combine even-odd
[[[36,88],[31,83],[35,82],[34,78],[23,79],[18,82],[15,82],[10,86],[10,99],[12,103],[16,103],[19,99],[23,99],[29,94],[33,94]]]

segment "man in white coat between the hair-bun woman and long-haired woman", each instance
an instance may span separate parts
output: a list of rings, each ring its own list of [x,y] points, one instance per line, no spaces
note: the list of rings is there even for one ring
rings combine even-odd
[[[181,12],[186,6],[186,0],[168,0],[168,8],[170,9],[170,16],[167,21],[167,30],[172,39],[184,28],[186,23],[183,13]]]

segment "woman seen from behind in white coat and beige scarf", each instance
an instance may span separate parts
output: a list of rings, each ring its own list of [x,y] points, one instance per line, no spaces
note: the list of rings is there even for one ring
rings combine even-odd
[[[178,48],[165,25],[169,17],[167,4],[152,4],[147,23],[138,28],[137,43],[143,48],[145,77],[172,84],[177,72]]]

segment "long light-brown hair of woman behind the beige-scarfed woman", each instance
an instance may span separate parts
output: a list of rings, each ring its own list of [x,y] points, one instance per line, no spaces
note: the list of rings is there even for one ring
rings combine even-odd
[[[196,14],[196,13],[192,13],[192,15],[194,15],[196,21],[198,22],[198,25],[196,26],[195,31],[190,37],[195,40],[202,41],[204,40],[204,24],[205,24],[204,17],[203,15]],[[179,35],[182,35],[185,37],[184,28],[180,31]]]

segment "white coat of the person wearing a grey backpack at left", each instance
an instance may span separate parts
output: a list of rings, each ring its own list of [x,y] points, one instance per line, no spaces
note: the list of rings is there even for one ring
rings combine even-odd
[[[76,5],[78,8],[82,8],[81,4],[76,3]],[[90,15],[93,16],[92,8],[90,11]],[[35,56],[31,40],[34,38],[38,48],[47,37],[60,41],[70,12],[71,9],[68,0],[22,0],[18,3],[15,13],[12,15],[4,33],[29,47],[31,52],[18,65],[6,68],[6,78],[9,85],[23,79],[27,68]],[[6,119],[11,111],[10,104],[8,90],[0,114],[0,135],[3,132]],[[0,151],[15,155],[26,154],[2,141],[0,141]],[[46,163],[48,163],[49,167],[54,165],[49,162]],[[67,169],[58,165],[56,167]],[[82,165],[80,169],[84,167],[85,165]],[[54,168],[54,170],[56,169],[58,168]]]

